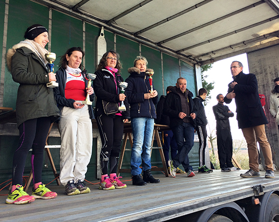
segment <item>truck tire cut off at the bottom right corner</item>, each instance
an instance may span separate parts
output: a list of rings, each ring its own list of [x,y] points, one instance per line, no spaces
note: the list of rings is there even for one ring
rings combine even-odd
[[[266,203],[264,222],[279,222],[279,197],[271,194]]]

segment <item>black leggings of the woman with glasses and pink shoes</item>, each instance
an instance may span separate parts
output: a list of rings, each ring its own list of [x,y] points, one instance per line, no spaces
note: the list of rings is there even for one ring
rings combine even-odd
[[[110,173],[116,173],[123,136],[123,118],[118,115],[115,115],[114,118],[100,115],[96,120],[102,141],[100,153],[101,174],[108,174],[109,161]]]

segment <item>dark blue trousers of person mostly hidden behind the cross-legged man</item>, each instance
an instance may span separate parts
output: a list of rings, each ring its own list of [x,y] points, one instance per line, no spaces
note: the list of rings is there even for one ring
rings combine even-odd
[[[167,136],[166,136],[167,135]],[[173,160],[177,155],[177,141],[175,136],[173,135],[172,131],[164,131],[164,145],[163,145],[163,152],[165,156],[166,165],[168,167],[168,153],[169,153],[169,146],[170,146],[170,156],[171,160]]]

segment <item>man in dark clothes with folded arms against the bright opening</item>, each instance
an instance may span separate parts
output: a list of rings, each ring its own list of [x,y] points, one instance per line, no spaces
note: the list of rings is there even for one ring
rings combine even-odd
[[[213,106],[213,112],[216,119],[217,146],[220,168],[222,172],[240,170],[232,164],[232,137],[229,117],[234,114],[229,107],[224,105],[224,96],[217,95],[218,104]]]

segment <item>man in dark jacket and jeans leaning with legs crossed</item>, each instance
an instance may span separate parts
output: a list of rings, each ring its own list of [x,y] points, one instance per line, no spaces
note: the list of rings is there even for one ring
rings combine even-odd
[[[195,176],[189,164],[188,153],[194,145],[194,127],[196,107],[192,100],[193,93],[186,89],[187,81],[178,78],[176,86],[167,94],[163,113],[169,116],[169,126],[178,144],[178,154],[172,161],[168,161],[169,173],[176,177],[176,169],[182,164],[188,177]]]

